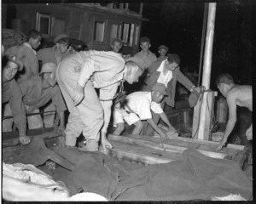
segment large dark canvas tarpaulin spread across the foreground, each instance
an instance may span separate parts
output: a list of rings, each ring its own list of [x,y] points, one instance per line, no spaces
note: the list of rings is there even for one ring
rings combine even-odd
[[[63,176],[71,195],[84,190],[109,201],[191,201],[215,196],[252,196],[252,182],[235,161],[215,159],[199,151],[183,151],[182,159],[135,170],[125,169],[99,152],[59,149],[58,154],[75,164]]]

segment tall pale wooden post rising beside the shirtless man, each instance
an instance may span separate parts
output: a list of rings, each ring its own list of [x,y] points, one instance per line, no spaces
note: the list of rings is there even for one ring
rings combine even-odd
[[[204,64],[203,64],[203,75],[202,75],[202,86],[205,86],[206,89],[210,88],[211,82],[211,69],[212,69],[212,45],[213,45],[213,36],[214,36],[214,24],[215,24],[215,14],[216,14],[216,4],[217,3],[209,3],[208,9],[208,20],[207,20],[207,39],[206,39],[206,47],[205,47],[205,55],[204,55]],[[198,129],[198,139],[209,140],[209,128],[210,124],[206,124],[206,118],[211,118],[209,116],[209,104],[207,101],[207,95],[203,99],[203,103],[201,105],[201,113],[200,113],[200,123]],[[210,107],[212,108],[212,107]],[[211,111],[210,111],[211,112]],[[208,115],[208,116],[207,116]],[[207,122],[209,123],[209,122]]]

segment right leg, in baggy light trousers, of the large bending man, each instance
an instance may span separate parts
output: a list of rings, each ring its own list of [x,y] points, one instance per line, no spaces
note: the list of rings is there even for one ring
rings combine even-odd
[[[84,123],[83,134],[86,139],[86,150],[98,150],[100,130],[103,125],[103,109],[93,88],[92,82],[88,81],[84,87],[84,99],[77,105],[79,116]]]

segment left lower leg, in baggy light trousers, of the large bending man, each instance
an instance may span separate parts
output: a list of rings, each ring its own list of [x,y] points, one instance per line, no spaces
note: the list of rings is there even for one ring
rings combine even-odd
[[[64,131],[65,133],[65,144],[67,146],[75,146],[77,142],[77,138],[82,133],[84,127],[84,123],[82,122],[79,111],[76,107],[73,107],[70,110],[70,114],[68,116],[67,126]]]

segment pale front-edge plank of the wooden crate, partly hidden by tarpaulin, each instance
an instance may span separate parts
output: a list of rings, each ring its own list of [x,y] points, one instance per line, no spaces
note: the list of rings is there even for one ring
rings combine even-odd
[[[182,153],[183,150],[187,150],[188,148],[186,147],[181,147],[181,146],[176,146],[176,145],[171,145],[171,144],[155,144],[150,141],[145,141],[141,139],[131,139],[128,137],[122,137],[122,136],[115,136],[113,134],[108,135],[109,140],[115,140],[115,141],[122,141],[125,143],[130,143],[130,144],[138,144],[141,146],[149,147],[154,150],[163,150],[163,151],[170,151],[170,152],[175,152],[175,153]],[[212,158],[218,158],[218,159],[224,159],[227,154],[223,153],[218,153],[218,152],[212,152],[212,151],[207,151],[207,150],[199,150],[203,155],[205,156],[210,156]]]

